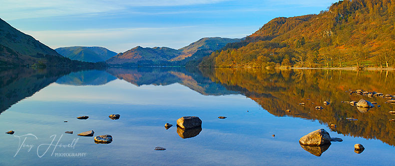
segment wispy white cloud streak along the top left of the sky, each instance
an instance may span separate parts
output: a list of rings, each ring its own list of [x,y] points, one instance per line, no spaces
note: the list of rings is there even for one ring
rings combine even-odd
[[[227,0],[8,0],[0,15],[7,20],[133,11],[134,7],[211,4]]]

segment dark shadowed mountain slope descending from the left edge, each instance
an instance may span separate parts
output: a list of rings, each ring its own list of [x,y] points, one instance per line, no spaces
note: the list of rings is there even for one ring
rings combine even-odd
[[[63,57],[54,49],[0,18],[0,66],[32,64],[40,64],[40,66],[99,65]]]

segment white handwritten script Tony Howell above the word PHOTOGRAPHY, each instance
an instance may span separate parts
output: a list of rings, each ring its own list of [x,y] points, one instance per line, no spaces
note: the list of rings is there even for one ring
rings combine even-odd
[[[18,136],[18,135],[14,135],[14,136],[19,138],[18,150],[15,153],[14,157],[18,155],[21,148],[27,148],[28,152],[30,152],[33,147],[36,147],[36,144],[31,144],[31,143],[29,144],[28,142],[30,142],[32,139],[33,140],[39,139],[36,135],[34,135],[32,133],[28,133],[28,134],[20,135],[20,136]],[[52,141],[50,143],[37,144],[37,155],[41,158],[51,149],[52,150],[51,156],[53,156],[57,147],[59,147],[59,148],[73,148],[74,149],[77,142],[78,142],[78,139],[79,139],[79,138],[76,138],[76,139],[73,139],[73,141],[71,143],[62,144],[62,143],[59,143],[61,141],[62,137],[63,137],[63,134],[56,141],[57,135],[54,134],[54,135],[50,136],[50,138],[52,138]],[[55,153],[55,154],[57,154],[57,153]],[[85,154],[84,154],[84,156],[85,156]]]

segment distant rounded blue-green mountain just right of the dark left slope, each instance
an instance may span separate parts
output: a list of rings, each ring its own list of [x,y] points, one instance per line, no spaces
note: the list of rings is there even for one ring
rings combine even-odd
[[[110,57],[117,55],[116,52],[100,46],[70,46],[55,49],[62,56],[72,60],[88,62],[106,61]]]

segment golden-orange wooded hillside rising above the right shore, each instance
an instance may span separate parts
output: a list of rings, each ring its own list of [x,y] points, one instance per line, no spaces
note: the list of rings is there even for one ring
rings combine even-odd
[[[278,17],[200,66],[394,66],[395,1],[344,0],[319,14]]]

